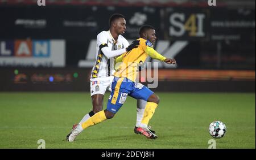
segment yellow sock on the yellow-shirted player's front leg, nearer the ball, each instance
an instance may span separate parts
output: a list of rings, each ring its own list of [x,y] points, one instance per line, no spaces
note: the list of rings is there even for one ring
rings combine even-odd
[[[144,110],[143,118],[141,121],[142,127],[147,127],[147,124],[149,120],[152,118],[153,114],[155,113],[155,109],[157,106],[158,104],[154,102],[147,102]]]

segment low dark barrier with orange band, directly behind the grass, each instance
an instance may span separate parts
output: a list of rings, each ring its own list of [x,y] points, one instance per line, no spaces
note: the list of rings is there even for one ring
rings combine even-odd
[[[148,70],[148,69],[147,69]],[[157,92],[255,92],[253,70],[159,69],[142,84]],[[0,91],[80,91],[90,90],[90,68],[2,68]]]

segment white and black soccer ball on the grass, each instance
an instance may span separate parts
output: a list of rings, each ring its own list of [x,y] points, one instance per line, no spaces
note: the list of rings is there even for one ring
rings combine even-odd
[[[225,136],[226,125],[220,121],[210,123],[209,133],[214,139],[220,139],[221,137]]]

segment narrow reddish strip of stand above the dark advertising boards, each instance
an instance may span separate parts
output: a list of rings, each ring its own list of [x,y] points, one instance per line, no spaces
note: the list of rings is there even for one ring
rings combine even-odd
[[[0,0],[0,4],[32,5],[37,0]],[[205,0],[46,0],[47,5],[101,5],[101,6],[207,6]],[[255,7],[254,0],[218,0],[220,6]]]

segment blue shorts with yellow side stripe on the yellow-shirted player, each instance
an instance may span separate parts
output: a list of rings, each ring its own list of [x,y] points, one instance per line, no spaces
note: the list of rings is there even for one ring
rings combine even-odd
[[[126,77],[114,77],[107,110],[112,113],[117,113],[127,96],[131,96],[137,100],[141,99],[147,101],[152,94],[154,94],[154,92],[141,83],[131,81]]]

